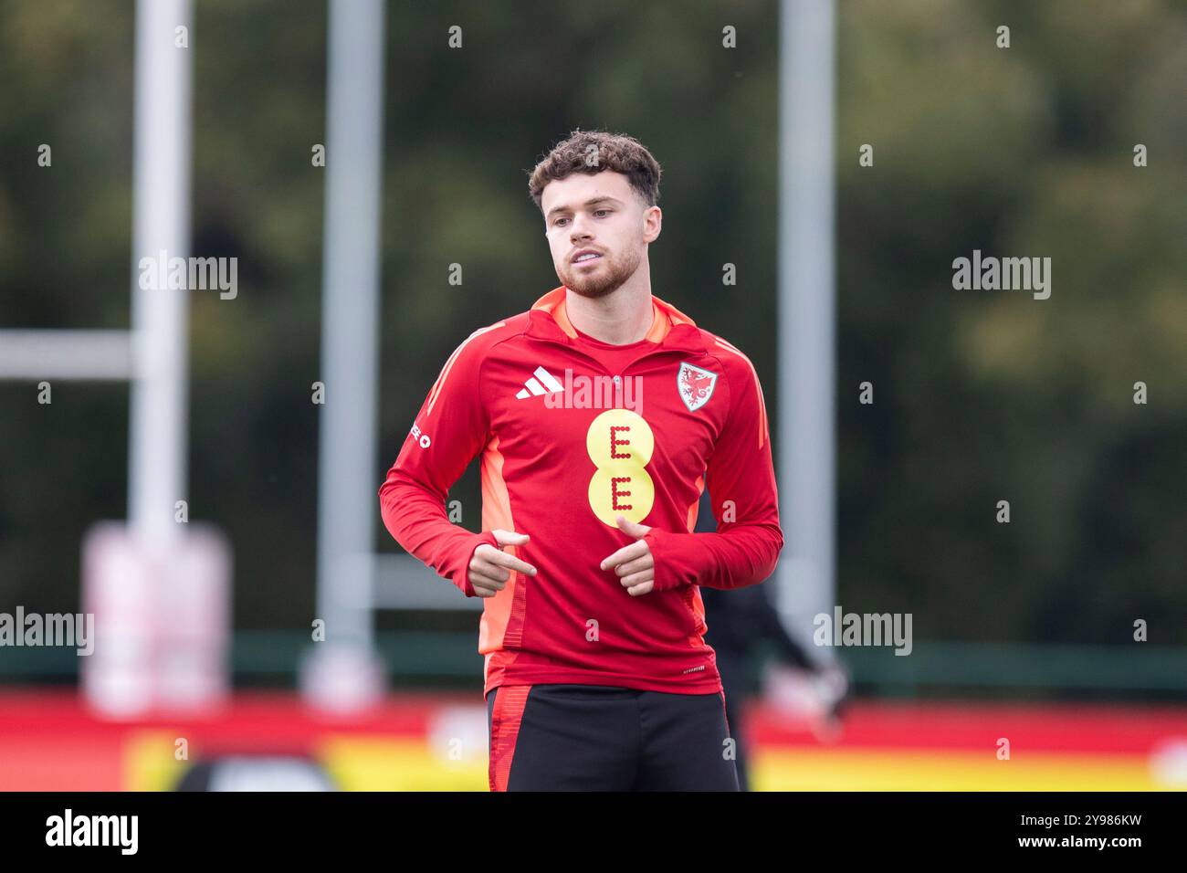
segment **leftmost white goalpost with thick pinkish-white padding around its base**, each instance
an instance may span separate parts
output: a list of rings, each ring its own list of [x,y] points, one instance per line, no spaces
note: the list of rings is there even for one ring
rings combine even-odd
[[[209,713],[229,690],[230,551],[209,526],[183,537],[174,510],[188,499],[189,273],[182,287],[160,280],[190,254],[192,12],[191,0],[137,2],[128,525],[99,523],[83,543],[84,612],[97,622],[82,691],[107,716]],[[119,373],[121,337],[106,331],[81,360],[50,354],[80,333],[38,344],[68,373]]]

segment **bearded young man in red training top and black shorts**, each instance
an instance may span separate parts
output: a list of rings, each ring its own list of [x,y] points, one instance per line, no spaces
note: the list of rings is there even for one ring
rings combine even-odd
[[[528,184],[561,285],[475,330],[387,481],[383,523],[466,596],[490,789],[738,787],[698,586],[767,578],[783,544],[749,359],[653,297],[660,166],[576,132]],[[482,533],[449,488],[482,454]],[[716,533],[693,533],[702,492]]]

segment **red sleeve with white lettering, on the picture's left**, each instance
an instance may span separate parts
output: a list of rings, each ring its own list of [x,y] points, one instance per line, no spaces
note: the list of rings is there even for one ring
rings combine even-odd
[[[497,543],[489,531],[452,524],[445,499],[487,443],[490,422],[480,385],[485,343],[476,339],[488,329],[450,355],[379,489],[383,525],[396,542],[468,597],[475,596],[468,578],[474,550]]]

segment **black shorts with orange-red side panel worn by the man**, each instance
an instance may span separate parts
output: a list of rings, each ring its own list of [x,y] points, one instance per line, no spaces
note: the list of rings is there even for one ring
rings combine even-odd
[[[737,791],[725,695],[501,685],[491,791]]]

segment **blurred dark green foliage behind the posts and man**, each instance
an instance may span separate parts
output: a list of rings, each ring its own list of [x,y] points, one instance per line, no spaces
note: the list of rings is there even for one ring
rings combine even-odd
[[[325,5],[196,7],[193,253],[237,257],[240,293],[193,295],[191,517],[233,540],[239,626],[304,626]],[[133,8],[0,5],[2,327],[128,324]],[[774,420],[776,13],[389,5],[376,491],[450,350],[557,284],[527,171],[576,127],[655,153],[653,290],[748,352]],[[840,601],[921,639],[1117,643],[1145,618],[1187,641],[1183,6],[843,0],[838,27]],[[1050,299],[953,290],[975,248],[1050,257]],[[0,602],[77,596],[83,532],[126,511],[126,394],[0,385]],[[475,526],[472,469],[452,496]],[[398,549],[377,500],[375,534]]]

